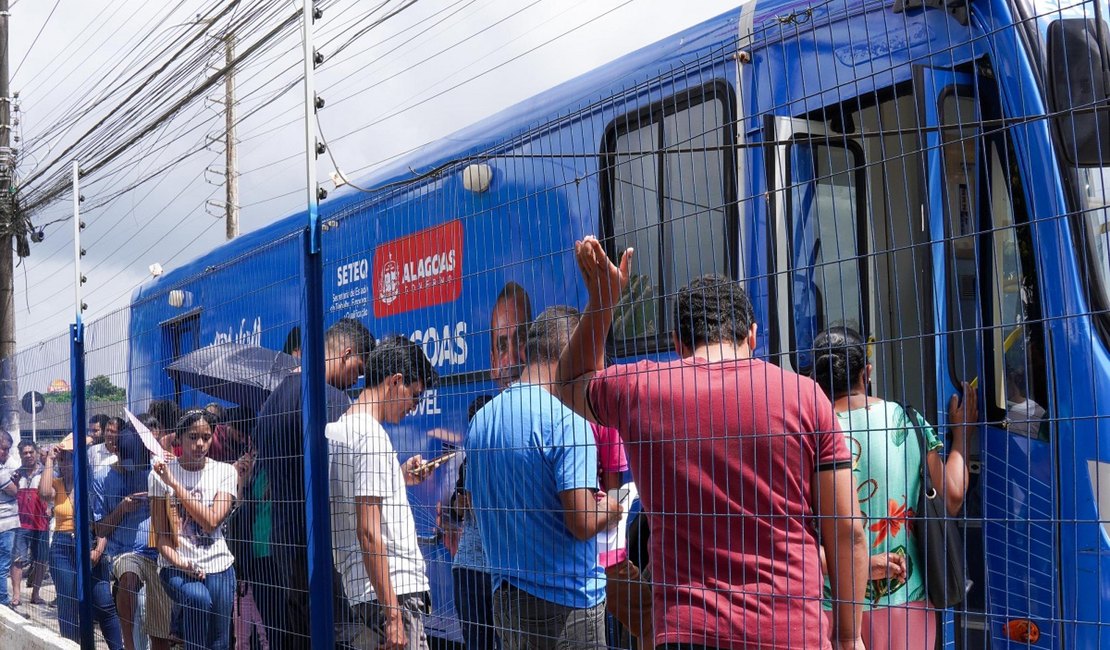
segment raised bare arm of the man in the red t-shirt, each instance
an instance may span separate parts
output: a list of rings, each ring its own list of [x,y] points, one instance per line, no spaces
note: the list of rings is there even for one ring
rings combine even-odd
[[[605,339],[613,325],[613,308],[628,286],[633,250],[624,252],[619,267],[609,262],[596,237],[575,242],[574,251],[589,298],[559,356],[555,387],[564,404],[586,419],[597,422],[586,389],[594,374],[605,369]]]

